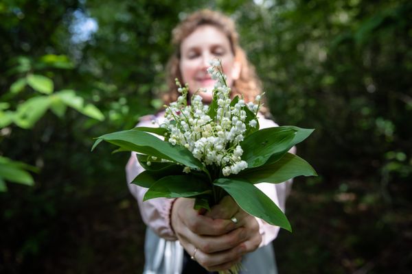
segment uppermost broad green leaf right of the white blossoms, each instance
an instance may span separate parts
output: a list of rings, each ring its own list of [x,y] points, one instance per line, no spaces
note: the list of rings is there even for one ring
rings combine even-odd
[[[242,160],[247,162],[248,169],[262,166],[271,155],[286,153],[295,134],[295,129],[283,127],[268,127],[254,132],[240,143],[243,149]]]

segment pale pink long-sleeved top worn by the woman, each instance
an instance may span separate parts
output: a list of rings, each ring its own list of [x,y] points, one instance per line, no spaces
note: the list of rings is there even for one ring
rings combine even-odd
[[[140,122],[137,126],[157,127],[157,125],[152,124],[152,120],[157,120],[159,123],[161,123],[163,116],[144,116],[140,119]],[[277,127],[276,123],[271,120],[265,119],[262,115],[259,117],[259,124],[260,128]],[[290,152],[295,153],[295,147],[293,147],[293,149],[290,149]],[[143,197],[148,188],[130,184],[130,182],[132,182],[133,179],[135,179],[135,177],[142,171],[144,171],[144,169],[137,161],[136,153],[133,152],[126,165],[126,178],[130,192],[139,203],[141,218],[143,219],[144,223],[146,223],[146,225],[148,225],[148,227],[150,227],[161,238],[165,238],[166,240],[177,240],[176,235],[174,234],[170,226],[170,213],[174,199],[155,198],[148,201],[143,201]],[[255,184],[255,186],[260,188],[260,190],[262,190],[269,198],[271,198],[272,201],[274,201],[282,211],[285,210],[285,202],[290,192],[291,185],[292,180],[289,180],[282,184]],[[259,223],[260,234],[262,235],[262,242],[260,243],[260,246],[268,245],[268,243],[276,238],[279,232],[279,227],[270,225],[259,218],[256,218],[256,220]]]

